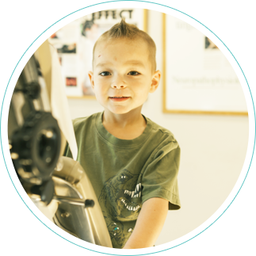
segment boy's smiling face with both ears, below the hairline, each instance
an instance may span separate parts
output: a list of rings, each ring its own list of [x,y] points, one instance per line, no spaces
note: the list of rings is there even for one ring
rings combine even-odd
[[[99,42],[94,72],[89,72],[97,101],[115,114],[141,108],[159,86],[160,76],[159,71],[152,74],[146,42],[127,39]]]

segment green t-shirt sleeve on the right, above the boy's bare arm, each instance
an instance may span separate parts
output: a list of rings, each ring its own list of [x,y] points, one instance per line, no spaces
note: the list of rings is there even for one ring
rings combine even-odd
[[[177,141],[167,143],[155,152],[143,172],[142,203],[152,197],[161,197],[169,201],[169,210],[181,208],[177,180],[180,155]]]

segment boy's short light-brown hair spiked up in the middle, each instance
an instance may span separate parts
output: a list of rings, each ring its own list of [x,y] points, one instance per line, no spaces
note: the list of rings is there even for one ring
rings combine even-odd
[[[151,60],[152,64],[152,71],[155,72],[156,70],[156,61],[155,61],[155,53],[156,53],[156,47],[155,42],[152,40],[151,36],[147,34],[147,32],[143,32],[142,30],[138,29],[136,25],[128,24],[124,21],[124,18],[120,21],[120,23],[117,23],[116,25],[113,25],[111,29],[103,33],[97,42],[94,44],[94,51],[97,46],[97,43],[104,40],[115,40],[115,39],[129,39],[129,40],[136,40],[136,39],[142,39],[144,40],[148,45],[148,51],[149,51],[149,58]]]

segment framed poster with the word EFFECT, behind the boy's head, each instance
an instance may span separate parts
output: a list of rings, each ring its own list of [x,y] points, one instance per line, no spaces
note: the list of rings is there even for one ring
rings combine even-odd
[[[46,27],[82,7],[44,7]],[[80,10],[48,29],[48,40],[58,52],[67,97],[95,98],[88,71],[94,44],[102,33],[124,17],[147,32],[147,7],[95,6]]]

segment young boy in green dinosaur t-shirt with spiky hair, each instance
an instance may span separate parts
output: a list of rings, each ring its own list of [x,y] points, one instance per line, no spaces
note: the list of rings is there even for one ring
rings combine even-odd
[[[105,110],[74,120],[77,161],[94,186],[114,250],[157,250],[168,209],[180,208],[178,142],[141,114],[159,86],[155,52],[151,37],[124,20],[105,32],[89,73]]]

